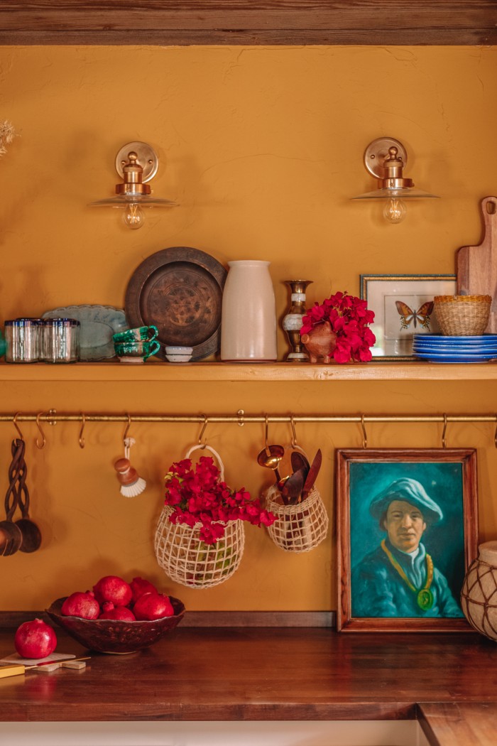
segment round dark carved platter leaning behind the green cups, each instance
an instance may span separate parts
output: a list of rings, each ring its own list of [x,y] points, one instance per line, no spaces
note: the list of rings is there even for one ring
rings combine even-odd
[[[189,246],[163,248],[147,257],[133,272],[126,289],[124,310],[130,327],[151,324],[165,345],[193,348],[191,360],[218,351],[221,342],[221,304],[227,270],[217,259]]]

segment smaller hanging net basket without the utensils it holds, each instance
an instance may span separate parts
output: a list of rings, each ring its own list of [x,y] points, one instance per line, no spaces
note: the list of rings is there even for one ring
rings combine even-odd
[[[276,515],[268,532],[279,548],[287,552],[308,552],[326,539],[328,514],[316,487],[296,505],[282,505],[278,498],[276,485],[265,492],[266,507]]]

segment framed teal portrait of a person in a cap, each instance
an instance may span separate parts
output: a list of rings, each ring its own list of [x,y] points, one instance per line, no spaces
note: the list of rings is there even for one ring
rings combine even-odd
[[[471,631],[475,449],[338,450],[336,515],[338,630]]]

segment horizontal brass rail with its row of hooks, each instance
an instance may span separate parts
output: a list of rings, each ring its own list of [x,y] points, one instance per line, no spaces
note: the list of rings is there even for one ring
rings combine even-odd
[[[268,413],[265,415],[252,415],[246,416],[244,410],[238,410],[235,416],[232,415],[218,415],[218,416],[207,416],[202,415],[143,415],[137,414],[112,414],[112,413],[101,413],[95,415],[80,413],[57,413],[56,410],[48,410],[39,412],[37,414],[23,414],[16,412],[15,414],[0,414],[0,422],[12,422],[13,426],[19,435],[19,438],[24,439],[22,430],[19,427],[19,421],[29,422],[34,421],[37,424],[39,430],[39,437],[36,439],[37,448],[40,450],[45,448],[46,438],[43,432],[42,422],[50,425],[55,425],[57,422],[80,422],[80,431],[78,442],[80,448],[84,448],[86,445],[84,438],[84,431],[88,422],[124,422],[126,427],[124,430],[123,441],[128,437],[132,421],[134,422],[156,422],[156,423],[198,423],[200,424],[200,434],[198,436],[198,444],[206,447],[207,442],[204,437],[206,427],[209,422],[217,423],[235,423],[238,426],[243,427],[245,423],[256,423],[262,422],[265,425],[265,449],[269,451],[269,424],[270,423],[281,423],[287,422],[291,427],[291,445],[293,448],[300,448],[297,443],[297,430],[295,424],[297,422],[319,422],[323,424],[333,423],[358,423],[362,430],[362,448],[367,448],[367,430],[366,423],[379,423],[379,422],[402,422],[402,423],[442,423],[442,448],[447,447],[446,432],[449,422],[493,422],[496,424],[496,430],[494,433],[493,441],[497,448],[497,414],[484,414],[484,415],[273,415],[270,416]]]

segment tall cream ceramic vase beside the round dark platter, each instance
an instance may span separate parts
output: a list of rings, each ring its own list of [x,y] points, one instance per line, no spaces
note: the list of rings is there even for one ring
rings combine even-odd
[[[221,360],[276,361],[276,301],[270,262],[228,262],[221,312]]]

